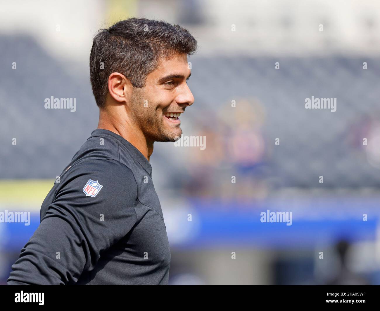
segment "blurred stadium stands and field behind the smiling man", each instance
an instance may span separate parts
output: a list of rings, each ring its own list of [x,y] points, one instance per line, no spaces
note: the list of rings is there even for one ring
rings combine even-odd
[[[1,284],[97,127],[92,38],[133,16],[181,24],[199,44],[181,119],[206,149],[155,143],[150,160],[170,284],[380,284],[380,2],[0,3],[0,211],[31,213],[29,226],[0,223]],[[45,109],[51,96],[76,111]],[[337,98],[336,112],[305,109],[311,96]],[[261,223],[268,209],[292,225]]]

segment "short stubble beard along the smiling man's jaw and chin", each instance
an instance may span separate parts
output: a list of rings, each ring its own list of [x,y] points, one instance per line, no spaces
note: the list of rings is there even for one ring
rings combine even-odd
[[[179,140],[182,135],[182,129],[179,127],[177,134],[167,130],[163,124],[162,114],[158,113],[155,108],[156,106],[145,97],[143,89],[134,88],[131,99],[131,113],[146,138],[159,142],[174,142]],[[146,103],[147,107],[144,106]]]

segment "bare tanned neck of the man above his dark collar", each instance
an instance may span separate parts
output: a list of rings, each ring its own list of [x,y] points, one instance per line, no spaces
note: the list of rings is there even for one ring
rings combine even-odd
[[[141,130],[132,128],[130,122],[114,122],[115,119],[107,118],[105,113],[100,113],[98,129],[105,129],[120,135],[129,143],[131,143],[144,157],[149,161],[150,155],[153,153],[153,141],[147,140]],[[127,121],[127,120],[126,120]]]

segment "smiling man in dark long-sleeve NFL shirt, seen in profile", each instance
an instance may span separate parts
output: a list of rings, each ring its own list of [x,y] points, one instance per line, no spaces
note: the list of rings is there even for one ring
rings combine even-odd
[[[95,129],[57,177],[8,284],[168,284],[170,248],[152,182],[155,141],[176,141],[194,97],[184,28],[123,20],[95,36]]]

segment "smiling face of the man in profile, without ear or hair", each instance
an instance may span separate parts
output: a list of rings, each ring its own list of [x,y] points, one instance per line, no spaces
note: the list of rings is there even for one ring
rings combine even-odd
[[[134,90],[131,113],[149,140],[176,141],[181,136],[178,116],[194,102],[186,82],[190,74],[187,55],[175,55],[161,59],[147,75],[145,88]]]

